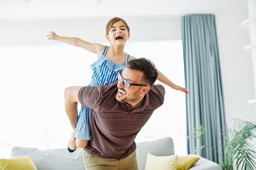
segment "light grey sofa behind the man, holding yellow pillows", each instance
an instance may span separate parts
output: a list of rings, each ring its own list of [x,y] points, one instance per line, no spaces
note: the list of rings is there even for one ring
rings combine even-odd
[[[174,143],[171,137],[154,141],[137,143],[137,160],[139,170],[145,169],[147,154],[168,156],[174,154]],[[25,156],[36,164],[38,170],[85,170],[83,163],[83,149],[78,148],[69,153],[67,148],[39,150],[36,148],[14,147],[11,157]],[[189,170],[221,170],[221,167],[208,159],[200,157]]]

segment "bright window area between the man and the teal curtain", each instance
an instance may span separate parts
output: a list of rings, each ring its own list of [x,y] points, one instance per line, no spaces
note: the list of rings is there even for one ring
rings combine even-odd
[[[150,59],[173,83],[185,86],[181,40],[129,42],[125,45],[125,51],[136,57]],[[184,155],[187,153],[185,93],[167,85],[165,92],[163,105],[138,133],[136,141],[170,136],[174,140],[175,153]]]

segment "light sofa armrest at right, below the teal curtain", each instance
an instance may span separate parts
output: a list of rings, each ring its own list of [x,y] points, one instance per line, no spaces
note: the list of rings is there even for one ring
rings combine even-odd
[[[198,156],[194,155],[193,156]],[[193,165],[189,170],[222,170],[221,167],[209,159],[203,158],[201,156],[195,165]]]

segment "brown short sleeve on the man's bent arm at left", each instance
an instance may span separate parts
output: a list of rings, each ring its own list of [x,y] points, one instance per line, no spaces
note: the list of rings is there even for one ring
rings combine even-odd
[[[98,110],[100,105],[100,86],[81,87],[78,98],[82,106]]]

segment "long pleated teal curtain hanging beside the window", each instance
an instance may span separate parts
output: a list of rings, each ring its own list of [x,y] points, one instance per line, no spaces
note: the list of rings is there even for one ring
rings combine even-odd
[[[191,127],[202,125],[211,133],[203,140],[188,140],[188,153],[201,146],[213,146],[198,151],[202,157],[222,163],[223,142],[227,136],[223,89],[219,64],[217,32],[214,15],[181,17],[186,98],[187,134]],[[220,156],[221,155],[221,156]]]

